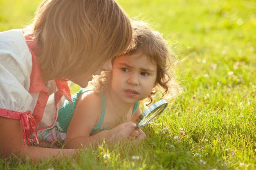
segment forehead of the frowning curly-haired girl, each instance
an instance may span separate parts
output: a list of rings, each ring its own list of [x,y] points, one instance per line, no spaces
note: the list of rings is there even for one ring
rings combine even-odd
[[[143,68],[155,68],[157,64],[152,62],[149,57],[143,53],[135,53],[127,56],[117,57],[113,65],[115,64],[127,64],[131,67],[143,67]]]

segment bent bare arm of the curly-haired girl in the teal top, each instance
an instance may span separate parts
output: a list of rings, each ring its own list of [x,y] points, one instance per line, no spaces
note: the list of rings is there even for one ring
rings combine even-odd
[[[93,127],[100,119],[101,106],[99,93],[83,93],[81,100],[76,105],[76,110],[67,130],[66,148],[79,148],[82,145],[101,143],[104,139],[106,141],[116,141],[139,135],[139,132],[135,130],[135,124],[130,122],[90,136]]]

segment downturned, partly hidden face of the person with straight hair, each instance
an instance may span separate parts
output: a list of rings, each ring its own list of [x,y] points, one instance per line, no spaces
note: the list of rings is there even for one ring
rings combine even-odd
[[[92,66],[88,71],[79,75],[75,78],[70,79],[73,83],[78,84],[80,87],[85,88],[88,86],[88,82],[92,80],[92,75],[100,75],[102,71],[111,71],[112,70],[112,63],[111,59],[106,61],[100,68],[95,71],[95,67]]]

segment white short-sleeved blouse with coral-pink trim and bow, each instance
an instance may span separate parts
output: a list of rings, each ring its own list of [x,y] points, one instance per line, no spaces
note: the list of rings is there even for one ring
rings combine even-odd
[[[0,32],[0,116],[20,120],[24,144],[26,136],[29,143],[31,133],[54,126],[65,98],[72,102],[67,82],[45,85],[33,44],[21,29]],[[51,84],[55,90],[49,96]]]

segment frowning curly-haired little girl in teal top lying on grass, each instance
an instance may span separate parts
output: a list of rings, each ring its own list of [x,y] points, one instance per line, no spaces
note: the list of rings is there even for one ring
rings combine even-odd
[[[169,70],[174,55],[161,34],[144,22],[132,26],[132,43],[112,60],[112,71],[96,77],[92,88],[81,89],[72,97],[73,104],[67,102],[59,110],[54,134],[61,132],[66,148],[111,141],[108,134],[115,133],[120,122],[135,120],[141,114],[139,102],[148,98],[151,103],[157,87],[164,89],[163,97],[177,94]],[[52,134],[48,131],[48,136]],[[146,136],[141,129],[137,134],[136,140]]]

